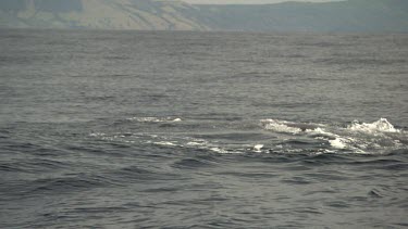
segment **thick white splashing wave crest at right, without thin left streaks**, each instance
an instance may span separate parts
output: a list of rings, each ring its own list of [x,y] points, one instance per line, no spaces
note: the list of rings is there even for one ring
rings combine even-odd
[[[407,133],[396,129],[386,118],[373,123],[354,120],[346,127],[329,126],[323,124],[293,123],[277,119],[262,119],[265,130],[283,135],[292,135],[322,140],[329,143],[327,152],[335,150],[353,153],[376,154],[393,150],[407,149]]]

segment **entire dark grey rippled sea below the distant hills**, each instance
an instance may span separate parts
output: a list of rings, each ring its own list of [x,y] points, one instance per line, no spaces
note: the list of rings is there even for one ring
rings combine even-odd
[[[0,30],[0,228],[404,228],[408,36]]]

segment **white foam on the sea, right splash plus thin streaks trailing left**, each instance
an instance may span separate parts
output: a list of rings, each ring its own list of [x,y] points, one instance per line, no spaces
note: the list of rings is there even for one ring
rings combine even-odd
[[[162,122],[182,122],[181,118],[174,117],[134,117],[133,120],[144,123],[162,123]],[[238,154],[238,153],[273,153],[273,152],[287,152],[300,153],[305,152],[302,147],[292,144],[292,140],[298,139],[313,139],[312,144],[321,145],[321,150],[313,152],[317,153],[332,153],[332,152],[351,152],[362,154],[379,154],[386,153],[395,149],[407,149],[407,132],[396,129],[387,119],[380,118],[374,123],[357,123],[354,122],[347,127],[338,125],[323,125],[323,124],[307,124],[294,123],[279,119],[262,119],[260,120],[262,127],[267,130],[280,132],[276,140],[272,139],[271,144],[267,144],[268,149],[259,142],[251,141],[237,143],[237,142],[223,142],[223,140],[207,141],[193,137],[181,137],[173,135],[149,133],[149,132],[91,132],[89,137],[98,138],[107,141],[121,141],[127,143],[147,143],[157,144],[169,148],[181,149],[197,149],[205,151],[212,151],[220,154]],[[287,133],[287,135],[285,135]],[[137,139],[137,140],[136,140]],[[279,144],[280,142],[286,142]],[[309,141],[307,141],[309,142]],[[263,143],[263,140],[262,140]],[[276,145],[274,145],[276,144]]]

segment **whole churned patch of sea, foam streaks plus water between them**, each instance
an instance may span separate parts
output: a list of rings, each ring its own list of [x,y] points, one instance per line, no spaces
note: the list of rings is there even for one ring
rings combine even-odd
[[[182,120],[174,117],[134,117],[133,119],[151,125]],[[188,122],[202,124],[200,120]],[[245,122],[250,122],[251,125]],[[126,145],[150,145],[160,149],[220,154],[358,153],[375,155],[408,150],[407,132],[395,128],[386,118],[380,118],[373,123],[354,120],[345,125],[297,123],[272,118],[258,122],[260,125],[254,120],[234,122],[230,125],[218,126],[215,129],[206,129],[207,131],[197,127],[172,131],[149,127],[143,131],[138,129],[138,132],[132,132],[132,130],[112,133],[91,132],[89,137]],[[250,126],[249,129],[247,129],[248,126]],[[183,125],[175,127],[183,128]]]

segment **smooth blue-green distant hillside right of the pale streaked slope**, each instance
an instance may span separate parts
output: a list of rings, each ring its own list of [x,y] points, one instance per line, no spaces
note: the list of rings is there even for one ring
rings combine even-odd
[[[408,31],[408,0],[199,5],[221,30]]]

